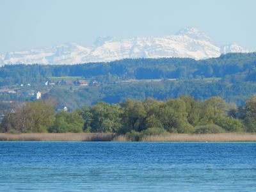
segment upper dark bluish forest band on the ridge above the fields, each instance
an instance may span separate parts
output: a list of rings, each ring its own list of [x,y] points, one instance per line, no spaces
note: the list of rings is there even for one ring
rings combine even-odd
[[[190,58],[162,58],[79,65],[5,65],[0,68],[0,85],[42,83],[49,77],[61,76],[80,76],[98,81],[232,76],[234,81],[255,81],[255,65],[256,52],[223,54],[219,58],[198,61]]]

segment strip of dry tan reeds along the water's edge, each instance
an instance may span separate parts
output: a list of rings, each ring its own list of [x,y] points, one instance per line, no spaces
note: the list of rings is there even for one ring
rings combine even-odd
[[[0,141],[132,141],[125,135],[114,133],[0,133]],[[152,142],[253,142],[256,134],[164,134],[144,136],[140,141]]]

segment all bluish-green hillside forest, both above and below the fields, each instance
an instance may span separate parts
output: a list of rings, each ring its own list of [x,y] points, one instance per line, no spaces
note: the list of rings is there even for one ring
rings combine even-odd
[[[0,86],[20,83],[40,86],[49,77],[63,76],[79,76],[88,81],[99,82],[100,86],[78,90],[72,87],[52,87],[43,95],[43,99],[56,100],[58,106],[67,106],[69,109],[91,106],[99,100],[113,104],[129,98],[141,101],[147,97],[167,100],[180,95],[191,95],[198,100],[219,96],[227,102],[244,105],[246,98],[256,92],[255,66],[255,52],[223,54],[219,58],[198,61],[189,58],[163,58],[80,65],[5,65],[0,68]],[[122,83],[128,79],[161,81]],[[2,94],[1,100],[24,102],[29,98]]]

